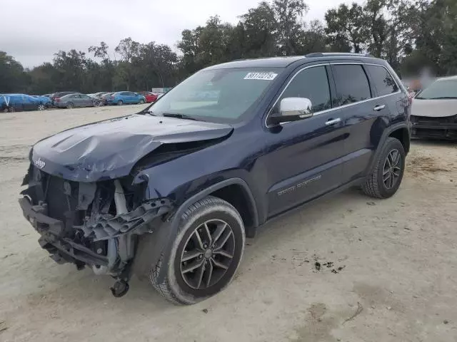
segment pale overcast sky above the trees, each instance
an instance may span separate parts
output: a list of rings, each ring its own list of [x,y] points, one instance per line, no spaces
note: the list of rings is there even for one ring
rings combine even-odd
[[[236,24],[260,0],[0,0],[0,51],[26,68],[52,61],[71,48],[87,52],[101,41],[111,54],[119,41],[168,44],[176,50],[181,31],[204,25],[210,16]],[[321,19],[347,0],[308,0],[305,21]],[[361,2],[361,0],[356,0]],[[11,15],[9,15],[11,14]],[[114,58],[114,56],[111,56]]]

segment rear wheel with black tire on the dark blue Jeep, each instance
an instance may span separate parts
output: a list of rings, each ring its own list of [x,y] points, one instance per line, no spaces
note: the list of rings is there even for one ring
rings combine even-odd
[[[398,155],[396,154],[398,152]],[[396,167],[390,167],[394,162],[391,162],[392,156],[394,160],[398,157]],[[381,153],[376,160],[373,173],[368,176],[366,183],[362,185],[363,192],[375,198],[388,198],[393,196],[398,187],[400,187],[403,173],[405,171],[405,150],[401,142],[396,138],[387,138],[386,143],[381,150]],[[386,171],[387,170],[387,171]],[[396,171],[395,174],[391,170]],[[386,173],[387,172],[387,173]],[[398,175],[394,177],[395,175]],[[392,177],[387,178],[386,177]],[[392,183],[391,183],[392,182]],[[390,185],[390,186],[389,186]]]

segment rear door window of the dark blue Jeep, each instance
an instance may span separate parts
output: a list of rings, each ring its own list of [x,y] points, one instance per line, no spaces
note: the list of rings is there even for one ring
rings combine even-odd
[[[361,65],[335,65],[333,74],[338,105],[348,105],[371,98],[370,84]]]

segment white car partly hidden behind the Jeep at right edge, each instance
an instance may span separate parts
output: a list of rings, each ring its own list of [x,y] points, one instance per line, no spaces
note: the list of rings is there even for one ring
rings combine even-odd
[[[438,78],[413,98],[412,135],[457,140],[457,76]]]

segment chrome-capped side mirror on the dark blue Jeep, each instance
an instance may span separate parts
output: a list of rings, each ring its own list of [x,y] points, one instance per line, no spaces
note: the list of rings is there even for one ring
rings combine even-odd
[[[273,125],[288,123],[313,116],[313,104],[309,98],[283,98],[279,103],[279,113],[268,117]]]

